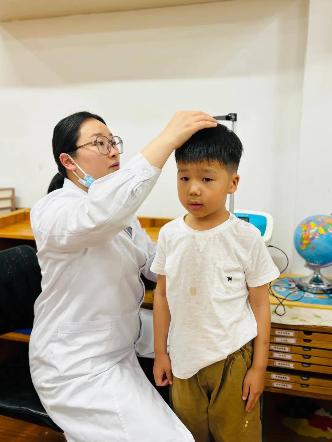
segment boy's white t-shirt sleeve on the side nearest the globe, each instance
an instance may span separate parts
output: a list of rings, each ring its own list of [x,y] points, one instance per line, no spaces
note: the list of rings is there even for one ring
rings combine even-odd
[[[249,254],[248,262],[244,269],[245,280],[248,287],[259,287],[278,278],[278,267],[272,261],[270,253],[259,234]]]

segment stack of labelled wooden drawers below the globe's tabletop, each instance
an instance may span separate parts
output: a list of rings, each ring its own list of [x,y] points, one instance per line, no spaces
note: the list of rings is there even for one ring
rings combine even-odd
[[[332,400],[332,328],[272,324],[265,390]]]

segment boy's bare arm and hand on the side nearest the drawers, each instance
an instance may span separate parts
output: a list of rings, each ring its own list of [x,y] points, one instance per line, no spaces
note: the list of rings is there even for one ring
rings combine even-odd
[[[246,405],[247,412],[255,407],[264,389],[271,334],[271,309],[268,285],[248,287],[248,290],[249,303],[256,318],[258,334],[254,339],[252,366],[244,377],[243,382],[242,399],[246,400],[249,395]]]

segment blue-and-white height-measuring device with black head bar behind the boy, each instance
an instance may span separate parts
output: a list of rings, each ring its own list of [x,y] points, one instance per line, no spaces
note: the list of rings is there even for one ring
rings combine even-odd
[[[236,133],[237,114],[219,115],[213,118],[220,121],[231,121],[232,130]],[[256,210],[236,210],[234,212],[234,194],[229,195],[229,212],[234,213],[236,217],[256,226],[257,229],[260,230],[266,246],[271,243],[273,218],[269,213],[258,212]]]

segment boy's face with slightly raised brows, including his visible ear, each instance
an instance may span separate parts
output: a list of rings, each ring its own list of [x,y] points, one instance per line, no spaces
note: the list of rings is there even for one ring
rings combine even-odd
[[[236,172],[228,172],[218,161],[178,163],[179,200],[197,218],[223,212],[227,194],[237,190],[239,179]]]

